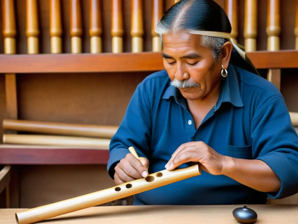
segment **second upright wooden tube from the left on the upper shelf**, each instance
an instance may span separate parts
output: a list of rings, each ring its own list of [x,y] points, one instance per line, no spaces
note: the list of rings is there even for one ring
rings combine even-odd
[[[37,0],[26,0],[26,36],[28,54],[39,53]]]

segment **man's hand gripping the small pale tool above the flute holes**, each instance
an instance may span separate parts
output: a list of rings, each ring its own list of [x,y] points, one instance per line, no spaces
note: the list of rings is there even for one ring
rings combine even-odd
[[[114,180],[116,185],[147,177],[148,165],[147,158],[139,157],[137,159],[133,154],[128,153],[115,167]]]

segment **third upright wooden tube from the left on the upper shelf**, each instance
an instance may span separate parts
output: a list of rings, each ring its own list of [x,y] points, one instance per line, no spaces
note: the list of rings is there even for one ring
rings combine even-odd
[[[51,53],[62,53],[62,25],[60,0],[50,0]]]

